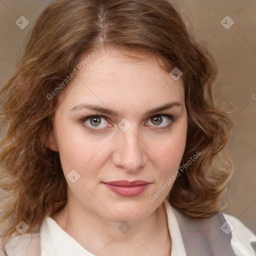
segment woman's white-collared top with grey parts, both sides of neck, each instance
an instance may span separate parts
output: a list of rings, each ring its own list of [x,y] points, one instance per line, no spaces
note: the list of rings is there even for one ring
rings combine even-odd
[[[234,216],[223,213],[222,221],[226,221],[222,225],[221,222],[216,225],[216,221],[219,221],[216,217],[193,220],[170,206],[167,199],[163,203],[171,237],[171,256],[256,255],[256,236]],[[224,252],[225,243],[222,242],[227,237],[230,237],[230,254]],[[25,233],[12,238],[7,243],[6,251],[8,256],[100,256],[99,251],[89,252],[83,248],[51,217],[46,217],[42,222],[40,232],[32,235]],[[0,256],[4,256],[2,250]]]

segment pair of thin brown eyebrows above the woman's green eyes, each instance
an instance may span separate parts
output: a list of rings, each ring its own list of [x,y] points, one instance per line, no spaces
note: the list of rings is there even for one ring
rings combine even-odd
[[[162,111],[162,110],[171,109],[171,108],[174,108],[174,107],[182,107],[182,106],[183,105],[181,103],[177,102],[177,101],[171,101],[171,102],[165,103],[164,105],[157,106],[153,109],[150,109],[150,110],[146,111],[145,115],[151,115],[151,114],[154,114],[154,113]],[[91,110],[94,110],[94,111],[98,111],[98,112],[113,115],[113,116],[120,116],[121,115],[120,113],[118,113],[117,111],[115,111],[113,109],[104,108],[104,107],[101,107],[101,106],[98,106],[98,105],[95,105],[95,104],[79,104],[79,105],[76,105],[76,106],[72,107],[69,110],[70,111],[77,111],[77,110],[80,110],[80,109],[83,109],[83,108],[91,109]]]

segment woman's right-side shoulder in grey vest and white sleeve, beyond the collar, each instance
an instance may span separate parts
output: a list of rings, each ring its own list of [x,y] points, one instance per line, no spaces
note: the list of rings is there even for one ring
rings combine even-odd
[[[194,251],[198,255],[256,255],[256,236],[238,218],[223,212],[206,219],[191,218],[172,209],[189,255]]]

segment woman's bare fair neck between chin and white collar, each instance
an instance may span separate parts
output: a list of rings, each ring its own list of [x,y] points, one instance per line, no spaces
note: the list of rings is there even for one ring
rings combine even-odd
[[[138,250],[144,251],[142,255],[158,255],[159,249],[157,253],[155,245],[159,248],[160,244],[168,245],[169,253],[166,255],[170,255],[170,236],[163,203],[136,223],[110,222],[88,209],[77,209],[74,200],[69,200],[52,218],[81,246],[98,255],[111,255],[113,252],[135,255],[139,254]],[[162,250],[159,255],[163,255]]]

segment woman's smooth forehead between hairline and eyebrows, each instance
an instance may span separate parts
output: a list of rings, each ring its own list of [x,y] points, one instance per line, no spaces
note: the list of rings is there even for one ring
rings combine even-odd
[[[135,50],[128,53],[136,58],[116,49],[100,49],[86,64],[83,62],[84,66],[59,95],[59,102],[93,98],[97,102],[129,100],[132,104],[138,97],[141,102],[152,97],[183,99],[182,80],[173,80],[153,54]],[[80,63],[85,58],[83,55]]]

